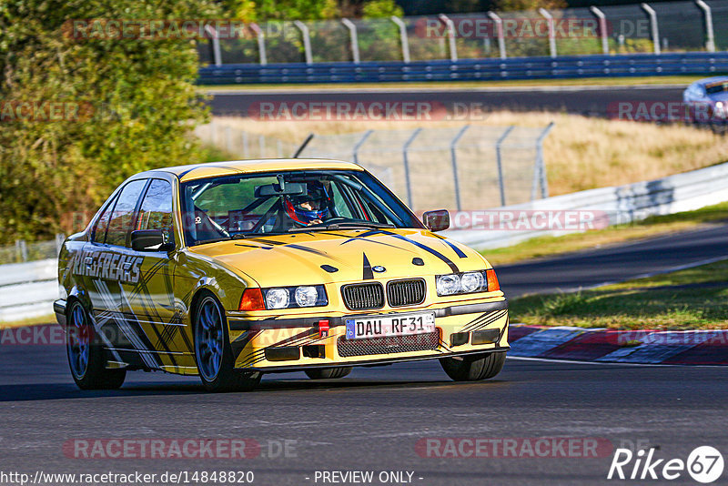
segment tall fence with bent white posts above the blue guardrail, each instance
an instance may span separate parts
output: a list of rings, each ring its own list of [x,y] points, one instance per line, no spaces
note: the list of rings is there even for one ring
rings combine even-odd
[[[213,36],[203,64],[431,61],[728,49],[727,0],[529,12],[251,24]],[[716,19],[717,22],[713,22]]]

